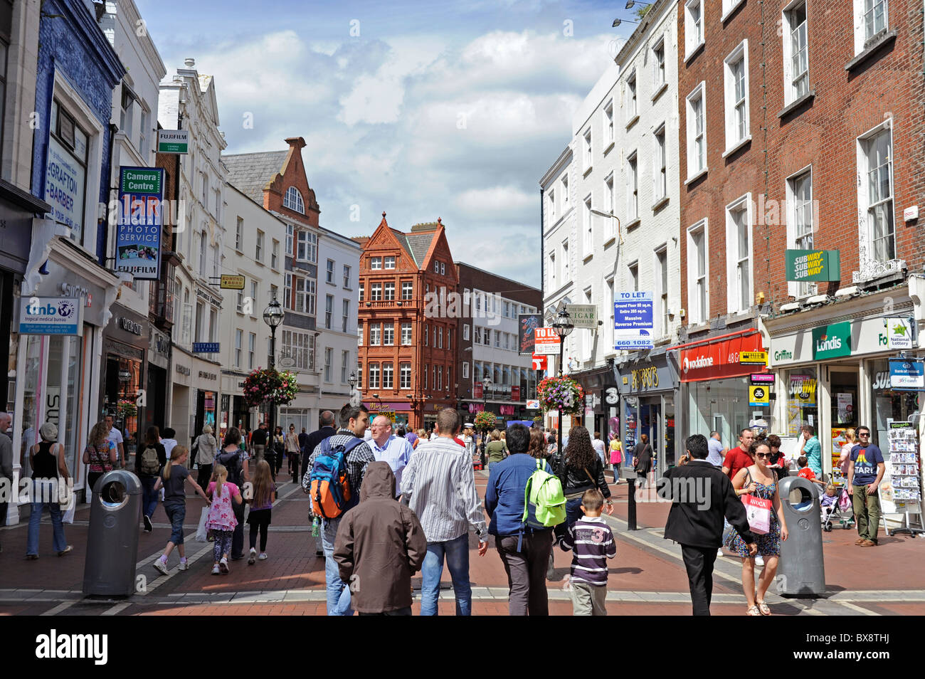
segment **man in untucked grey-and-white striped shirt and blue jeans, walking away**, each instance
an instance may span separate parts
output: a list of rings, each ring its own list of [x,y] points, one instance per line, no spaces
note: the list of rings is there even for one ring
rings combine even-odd
[[[469,526],[478,535],[478,555],[488,550],[485,514],[475,493],[472,457],[453,438],[460,418],[452,408],[437,415],[438,437],[421,443],[405,467],[401,494],[417,514],[427,538],[421,569],[421,615],[437,615],[443,559],[453,581],[456,614],[472,615],[469,584]]]

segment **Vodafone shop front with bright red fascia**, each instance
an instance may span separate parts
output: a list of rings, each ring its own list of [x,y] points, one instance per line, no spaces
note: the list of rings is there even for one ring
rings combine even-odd
[[[749,376],[766,373],[765,365],[741,361],[743,352],[761,352],[763,344],[758,330],[748,328],[673,347],[678,350],[685,405],[682,439],[691,434],[709,437],[710,432],[718,431],[723,447],[732,448],[746,427],[774,432],[774,392],[768,405],[753,406],[749,397]]]

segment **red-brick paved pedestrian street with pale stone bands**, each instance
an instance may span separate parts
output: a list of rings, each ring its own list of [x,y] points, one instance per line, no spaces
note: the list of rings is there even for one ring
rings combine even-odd
[[[484,496],[487,473],[476,472],[479,495]],[[282,477],[280,477],[281,479]],[[661,537],[669,505],[638,505],[639,530],[626,531],[626,493],[616,491],[616,512],[608,519],[618,539],[616,561],[611,564],[607,601],[611,615],[689,615],[690,599],[681,562],[681,550]],[[80,593],[89,509],[77,512],[67,526],[74,552],[57,558],[50,549],[51,526],[42,526],[40,559],[27,562],[26,523],[3,530],[0,554],[0,614],[25,615],[202,615],[211,612],[247,615],[325,614],[324,563],[314,557],[311,525],[306,525],[308,504],[291,483],[280,488],[274,508],[274,525],[267,545],[269,559],[248,566],[245,560],[231,563],[225,576],[210,574],[212,543],[195,542],[195,525],[202,500],[188,498],[188,556],[191,568],[176,569],[179,557],[171,555],[171,572],[162,576],[151,563],[163,550],[169,529],[163,510],[154,516],[154,532],[139,543],[138,574],[146,589],[127,601],[84,599]],[[854,546],[854,531],[834,529],[823,534],[828,595],[824,599],[769,597],[775,615],[910,615],[925,613],[925,588],[920,563],[925,540],[908,536],[881,536],[876,549]],[[246,536],[245,536],[246,539]],[[475,537],[470,541],[470,578],[476,615],[506,615],[507,583],[494,549],[479,558]],[[548,582],[549,611],[570,615],[572,604],[565,589],[569,554],[557,550],[556,573]],[[717,561],[714,574],[714,615],[742,615],[745,601],[739,585],[739,562],[734,557]],[[420,587],[420,575],[413,579]],[[449,574],[444,571],[445,591],[440,613],[453,614]],[[419,611],[415,596],[414,612]]]

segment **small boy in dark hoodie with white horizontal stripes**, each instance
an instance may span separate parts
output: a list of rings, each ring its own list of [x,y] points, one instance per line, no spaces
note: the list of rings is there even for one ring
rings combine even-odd
[[[607,615],[607,560],[617,555],[611,526],[600,516],[604,496],[597,489],[581,497],[585,516],[569,526],[560,545],[572,556],[572,611],[575,615]]]

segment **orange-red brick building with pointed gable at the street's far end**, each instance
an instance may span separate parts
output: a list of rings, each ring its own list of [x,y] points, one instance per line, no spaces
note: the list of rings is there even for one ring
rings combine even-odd
[[[382,213],[373,235],[356,241],[364,249],[357,386],[371,413],[429,428],[441,408],[454,407],[458,381],[457,318],[445,313],[446,302],[434,303],[456,293],[459,282],[445,228],[438,219],[402,233]]]

